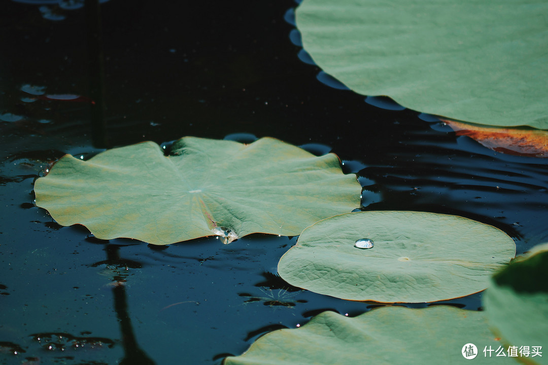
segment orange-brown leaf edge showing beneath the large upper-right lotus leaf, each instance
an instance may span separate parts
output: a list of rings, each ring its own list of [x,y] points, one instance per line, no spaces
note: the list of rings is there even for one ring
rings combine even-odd
[[[531,128],[486,127],[443,120],[457,136],[473,138],[496,152],[526,157],[548,157],[548,131]]]

